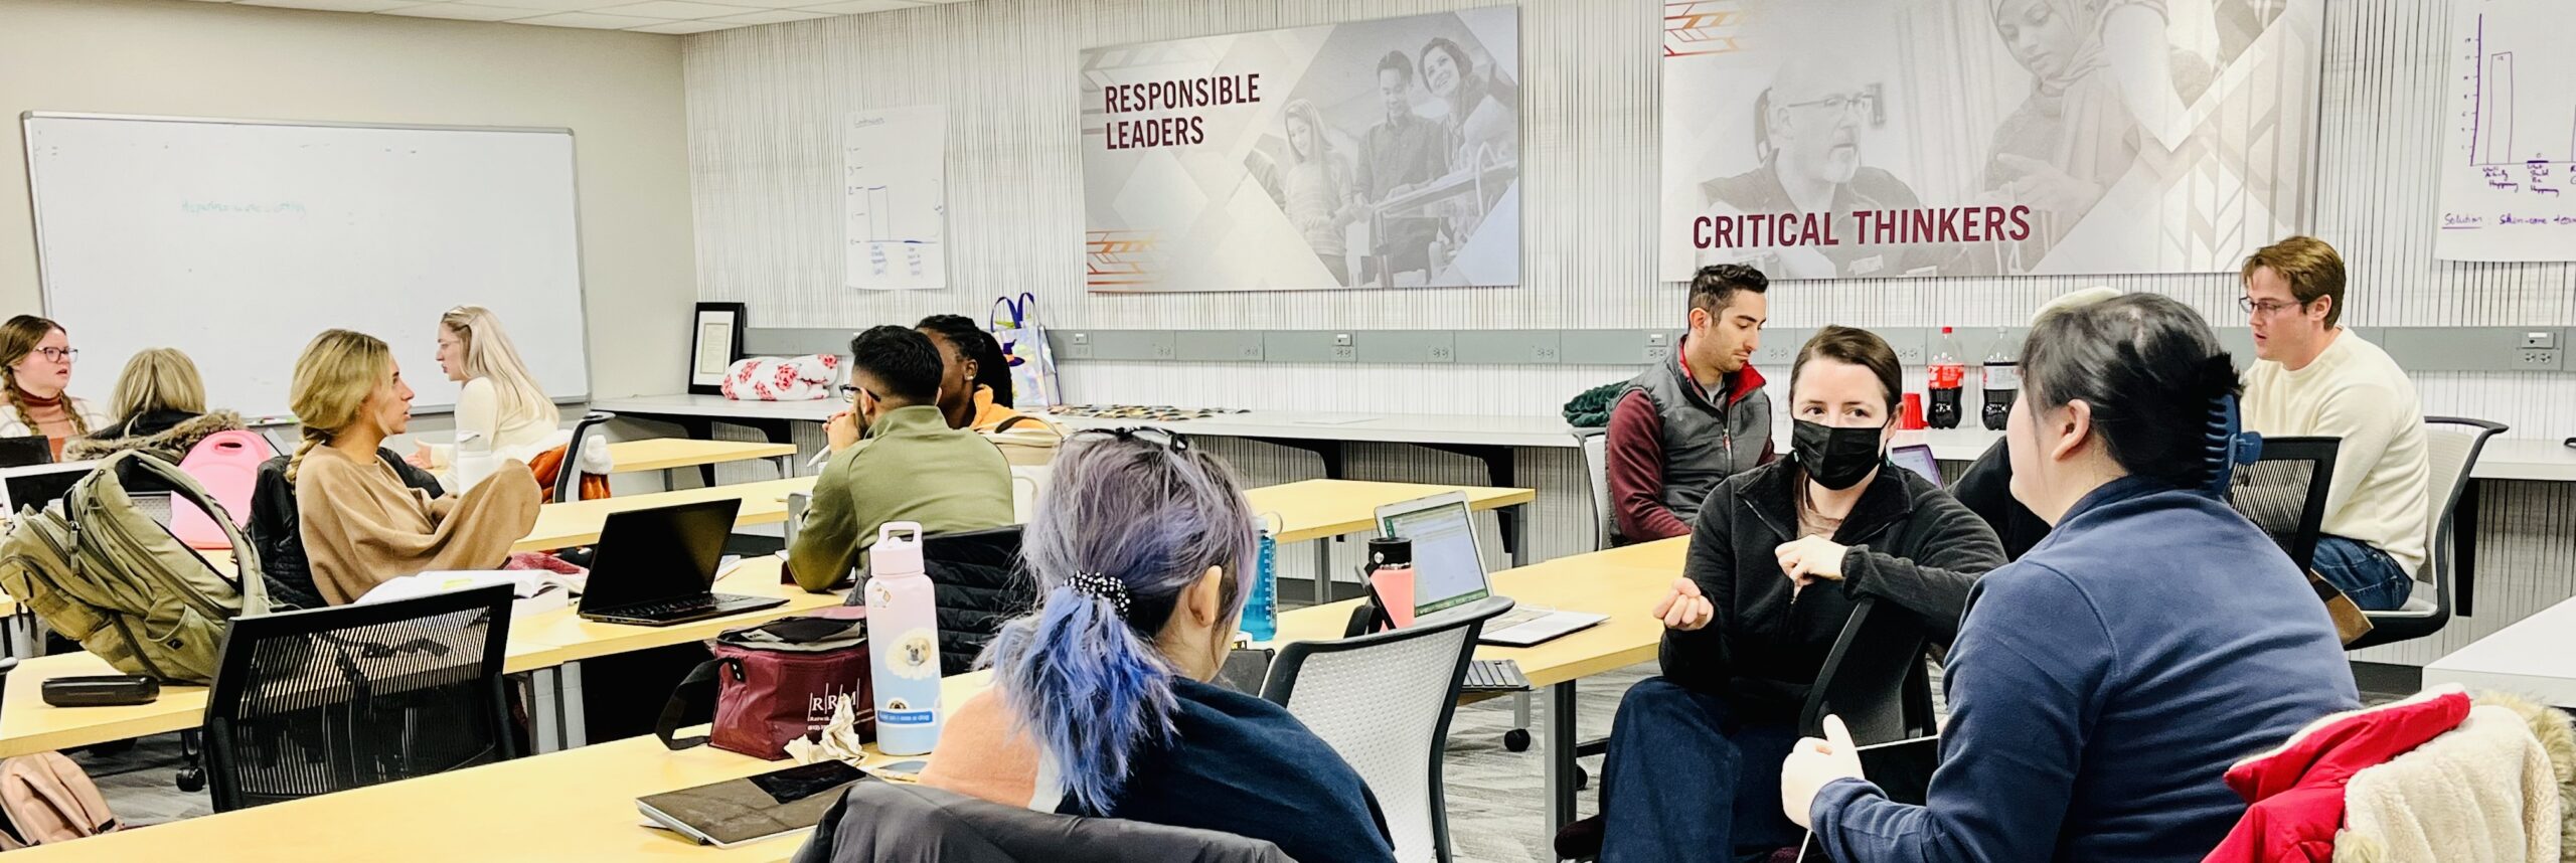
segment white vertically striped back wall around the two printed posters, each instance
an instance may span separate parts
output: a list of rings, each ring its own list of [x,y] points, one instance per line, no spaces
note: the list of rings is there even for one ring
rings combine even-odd
[[[1414,15],[1486,0],[979,0],[688,36],[690,170],[698,294],[747,301],[755,327],[866,327],[933,312],[979,314],[994,294],[1033,291],[1051,325],[1121,330],[1409,330],[1664,327],[1680,289],[1654,278],[1659,198],[1654,0],[1528,0],[1522,18],[1520,289],[1177,294],[1082,291],[1082,157],[1074,64],[1084,46]],[[2352,265],[2349,322],[2576,325],[2576,265],[2432,258],[2442,142],[2447,3],[2326,5],[2324,111],[2313,232]],[[948,291],[840,286],[840,119],[855,108],[945,103]],[[2239,319],[2231,273],[2038,276],[1958,281],[1806,281],[1772,291],[1785,327],[1999,327],[2043,299],[2110,283],[2164,291],[2213,319]],[[1257,368],[1257,374],[1255,374]],[[1548,415],[1628,368],[1066,363],[1074,399],[1262,410]],[[1785,376],[1783,376],[1785,379]],[[2429,415],[2514,425],[2517,438],[2576,433],[2576,376],[2424,374]],[[1780,397],[1780,392],[1775,392]],[[809,433],[814,435],[814,433]],[[819,446],[804,441],[809,448]],[[1218,443],[1252,482],[1314,477],[1314,459]],[[1476,482],[1473,461],[1417,448],[1358,448],[1360,477]],[[1520,453],[1543,489],[1538,551],[1589,544],[1589,502],[1571,451]],[[2442,639],[2372,649],[2424,662],[2576,593],[2576,484],[2488,484],[2481,515],[2481,613]],[[1291,549],[1291,574],[1306,572]]]

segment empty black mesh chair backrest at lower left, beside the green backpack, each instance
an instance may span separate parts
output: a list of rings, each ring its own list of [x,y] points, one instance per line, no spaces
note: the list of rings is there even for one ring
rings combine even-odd
[[[206,698],[214,809],[518,757],[510,587],[234,618]]]

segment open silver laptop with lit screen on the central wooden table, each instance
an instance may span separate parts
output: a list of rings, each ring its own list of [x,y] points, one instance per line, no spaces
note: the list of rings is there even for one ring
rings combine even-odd
[[[1476,546],[1476,520],[1466,507],[1466,492],[1383,505],[1378,507],[1378,531],[1414,544],[1414,618],[1494,595],[1494,582],[1484,572],[1484,551]],[[1530,647],[1602,621],[1610,616],[1522,605],[1486,621],[1476,641]]]

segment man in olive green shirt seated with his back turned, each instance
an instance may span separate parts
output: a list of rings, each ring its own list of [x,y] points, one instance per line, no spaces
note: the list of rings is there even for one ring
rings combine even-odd
[[[917,520],[922,533],[1010,523],[1010,461],[984,435],[948,428],[940,374],[940,350],[909,327],[873,327],[850,340],[855,404],[824,422],[832,461],[814,477],[814,500],[788,544],[799,587],[824,593],[845,582],[866,564],[876,528],[891,520]]]

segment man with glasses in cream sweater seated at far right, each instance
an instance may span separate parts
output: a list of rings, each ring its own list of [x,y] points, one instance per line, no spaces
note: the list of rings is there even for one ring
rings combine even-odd
[[[2380,345],[2339,327],[2344,258],[2316,237],[2290,237],[2246,258],[2254,368],[2244,425],[2290,438],[2342,438],[2316,574],[2365,611],[2406,605],[2424,569],[2424,410],[2406,371]]]

